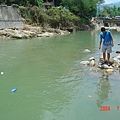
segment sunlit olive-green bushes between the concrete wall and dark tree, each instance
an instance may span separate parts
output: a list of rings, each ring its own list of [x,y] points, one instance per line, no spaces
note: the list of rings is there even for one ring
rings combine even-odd
[[[73,15],[68,9],[62,6],[59,8],[51,7],[46,10],[37,6],[20,7],[20,12],[28,24],[50,26],[53,28],[64,28],[79,26],[80,18]]]

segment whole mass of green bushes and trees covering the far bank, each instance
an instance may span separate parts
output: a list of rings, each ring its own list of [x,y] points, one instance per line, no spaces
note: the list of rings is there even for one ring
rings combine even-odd
[[[104,0],[59,0],[61,6],[45,8],[45,0],[0,0],[0,4],[18,4],[21,16],[29,24],[65,28],[90,24],[96,16],[97,4]],[[58,0],[54,0],[57,2]]]

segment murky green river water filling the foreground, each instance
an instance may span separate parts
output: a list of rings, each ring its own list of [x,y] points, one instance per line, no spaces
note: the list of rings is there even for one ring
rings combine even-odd
[[[113,57],[120,33],[112,33]],[[120,120],[119,71],[107,76],[80,64],[98,62],[98,46],[99,31],[0,40],[0,120]]]

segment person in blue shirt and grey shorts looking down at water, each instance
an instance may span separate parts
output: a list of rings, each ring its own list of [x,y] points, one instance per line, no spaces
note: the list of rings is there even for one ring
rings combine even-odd
[[[112,53],[112,47],[114,46],[114,40],[112,37],[112,33],[109,30],[106,30],[104,27],[101,28],[99,49],[101,48],[101,43],[102,43],[104,62],[106,62],[106,51],[107,51],[107,62],[109,62],[110,53]]]

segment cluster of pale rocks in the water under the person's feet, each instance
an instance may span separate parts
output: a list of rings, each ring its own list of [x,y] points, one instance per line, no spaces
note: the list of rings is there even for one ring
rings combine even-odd
[[[111,58],[110,62],[103,62],[103,58],[100,58],[99,62],[95,62],[95,58],[91,57],[89,60],[81,61],[81,65],[94,67],[92,71],[94,72],[104,72],[107,75],[112,75],[114,72],[119,71],[120,73],[120,54]]]

